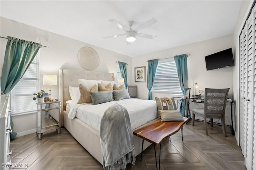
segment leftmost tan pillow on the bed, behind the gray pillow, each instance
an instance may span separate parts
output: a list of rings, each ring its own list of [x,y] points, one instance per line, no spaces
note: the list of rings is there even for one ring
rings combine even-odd
[[[78,100],[77,104],[92,103],[90,91],[98,91],[98,85],[94,85],[89,89],[88,87],[80,84],[79,90],[80,90],[80,99]]]

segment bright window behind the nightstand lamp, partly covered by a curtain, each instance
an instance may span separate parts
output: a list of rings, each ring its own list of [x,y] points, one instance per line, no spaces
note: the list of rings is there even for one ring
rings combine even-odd
[[[11,91],[12,115],[35,112],[34,93],[39,91],[39,51],[26,73]]]

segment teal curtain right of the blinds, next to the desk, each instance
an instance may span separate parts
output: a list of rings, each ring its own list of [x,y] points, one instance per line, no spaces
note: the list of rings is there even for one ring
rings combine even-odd
[[[188,61],[187,54],[174,56],[174,61],[177,67],[178,77],[180,81],[180,89],[182,94],[188,90]],[[185,102],[182,100],[180,105],[180,112],[184,115]]]

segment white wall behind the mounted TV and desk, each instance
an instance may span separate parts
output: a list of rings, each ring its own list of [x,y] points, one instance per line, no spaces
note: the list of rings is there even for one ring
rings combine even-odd
[[[170,40],[171,41],[171,40]],[[132,58],[132,76],[134,76],[134,67],[146,66],[148,71],[148,63],[150,59],[164,59],[174,57],[174,55],[190,54],[188,56],[188,87],[191,87],[191,95],[194,93],[194,83],[198,83],[198,90],[204,88],[230,88],[229,97],[233,98],[233,68],[226,67],[221,69],[214,69],[206,71],[205,56],[224,49],[232,47],[234,51],[233,36],[224,36],[202,42],[191,43],[179,47],[164,49],[154,53],[141,55]],[[147,80],[146,80],[147,81]],[[133,78],[133,85],[138,87],[138,98],[148,99],[147,82],[135,83]],[[170,94],[166,93],[152,93],[154,97],[168,97]],[[202,107],[199,105],[190,105],[190,109],[194,107]],[[226,107],[226,123],[230,123],[230,107]]]

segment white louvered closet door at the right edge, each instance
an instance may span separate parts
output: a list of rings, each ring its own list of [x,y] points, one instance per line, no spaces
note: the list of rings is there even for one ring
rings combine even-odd
[[[256,26],[254,8],[240,35],[240,146],[248,170],[256,170]]]

